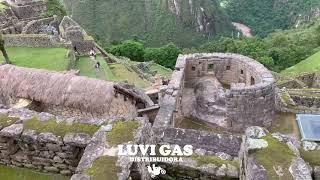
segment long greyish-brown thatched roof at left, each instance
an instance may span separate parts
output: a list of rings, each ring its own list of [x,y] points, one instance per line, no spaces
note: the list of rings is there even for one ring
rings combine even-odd
[[[135,101],[148,106],[151,100],[135,89],[72,74],[12,65],[0,66],[0,97],[26,98],[88,112],[108,113],[115,98],[115,90],[124,91],[124,94],[131,95]]]

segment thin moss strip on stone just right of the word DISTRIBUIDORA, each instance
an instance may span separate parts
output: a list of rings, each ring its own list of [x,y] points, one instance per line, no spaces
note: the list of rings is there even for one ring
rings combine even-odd
[[[239,162],[236,160],[222,160],[217,156],[209,156],[209,155],[205,155],[205,156],[193,155],[191,156],[191,158],[197,161],[197,166],[202,166],[206,164],[215,164],[217,166],[222,166],[223,164],[225,165],[230,164],[239,170]]]

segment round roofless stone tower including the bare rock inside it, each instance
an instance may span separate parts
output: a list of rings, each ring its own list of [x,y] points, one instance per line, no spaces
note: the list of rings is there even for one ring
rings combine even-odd
[[[174,124],[192,117],[232,131],[268,127],[275,112],[272,74],[253,59],[236,54],[181,55],[167,87],[155,123]]]

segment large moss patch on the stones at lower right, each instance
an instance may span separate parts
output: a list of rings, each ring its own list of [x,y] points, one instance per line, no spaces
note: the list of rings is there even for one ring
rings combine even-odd
[[[292,179],[289,167],[295,158],[289,147],[273,138],[271,135],[263,137],[268,142],[268,147],[255,151],[255,158],[258,164],[267,170],[268,179]],[[274,168],[281,167],[284,175],[279,178]]]

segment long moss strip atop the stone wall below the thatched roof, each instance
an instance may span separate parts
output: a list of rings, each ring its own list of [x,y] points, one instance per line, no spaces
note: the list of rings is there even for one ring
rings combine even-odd
[[[47,121],[40,121],[37,117],[23,122],[24,129],[32,129],[37,133],[53,133],[57,136],[63,137],[67,133],[86,133],[93,135],[99,126],[84,123],[68,124],[65,121],[57,122],[56,119],[49,119]]]

